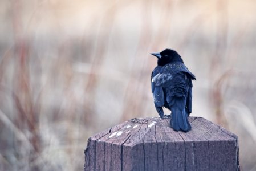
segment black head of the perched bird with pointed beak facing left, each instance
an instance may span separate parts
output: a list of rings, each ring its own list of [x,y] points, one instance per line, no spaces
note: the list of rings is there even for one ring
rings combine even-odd
[[[176,51],[171,50],[169,48],[166,48],[165,50],[158,53],[152,53],[151,55],[157,57],[157,65],[159,66],[164,66],[165,64],[176,61],[183,63],[181,56]]]

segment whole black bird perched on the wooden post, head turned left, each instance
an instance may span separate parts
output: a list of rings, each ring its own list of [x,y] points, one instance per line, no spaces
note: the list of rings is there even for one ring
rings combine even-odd
[[[196,77],[174,50],[165,49],[151,55],[158,59],[151,75],[156,111],[162,118],[162,107],[168,108],[172,111],[170,127],[175,131],[187,132],[191,129],[188,116],[192,112],[192,80],[196,80]]]

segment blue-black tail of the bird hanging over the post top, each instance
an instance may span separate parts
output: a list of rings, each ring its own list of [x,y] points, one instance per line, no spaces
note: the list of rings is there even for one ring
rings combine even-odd
[[[170,127],[172,127],[175,131],[184,132],[187,132],[191,129],[185,108],[181,109],[178,107],[178,105],[173,105]]]

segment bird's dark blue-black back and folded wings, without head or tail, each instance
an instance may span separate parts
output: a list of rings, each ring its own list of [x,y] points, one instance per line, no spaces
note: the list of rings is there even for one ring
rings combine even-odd
[[[184,97],[186,101],[187,97],[192,96],[192,79],[196,78],[182,62],[157,66],[151,76],[152,93],[155,101],[158,101],[156,104],[170,109],[168,101],[173,101],[174,97]],[[189,113],[192,110],[191,106],[192,99],[188,99]]]

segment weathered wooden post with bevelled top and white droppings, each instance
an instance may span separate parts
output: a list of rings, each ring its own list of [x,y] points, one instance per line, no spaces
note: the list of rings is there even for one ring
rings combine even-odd
[[[86,170],[239,170],[238,137],[202,117],[176,132],[170,118],[132,119],[88,139]]]

